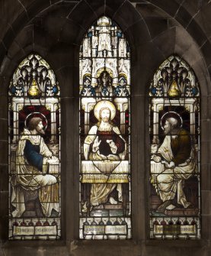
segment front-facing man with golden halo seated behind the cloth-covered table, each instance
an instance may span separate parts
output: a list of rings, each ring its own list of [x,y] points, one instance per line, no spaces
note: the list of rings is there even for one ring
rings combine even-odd
[[[111,122],[116,115],[116,109],[112,102],[106,100],[98,102],[94,107],[94,115],[99,122],[91,127],[85,138],[85,160],[102,160],[109,168],[109,161],[125,159],[126,141],[121,136],[119,128]],[[118,191],[119,201],[122,201],[121,184],[92,183],[91,206],[107,202],[117,204],[117,201],[110,196],[115,188]]]

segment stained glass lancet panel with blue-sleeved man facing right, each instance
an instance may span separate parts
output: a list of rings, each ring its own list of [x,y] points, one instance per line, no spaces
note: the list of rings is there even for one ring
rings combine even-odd
[[[14,71],[8,104],[9,239],[59,239],[59,84],[39,55]]]

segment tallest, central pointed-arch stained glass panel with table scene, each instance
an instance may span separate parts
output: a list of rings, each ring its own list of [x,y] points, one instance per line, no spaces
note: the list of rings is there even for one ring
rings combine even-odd
[[[80,238],[131,238],[130,54],[101,17],[80,49]]]

